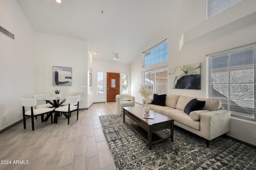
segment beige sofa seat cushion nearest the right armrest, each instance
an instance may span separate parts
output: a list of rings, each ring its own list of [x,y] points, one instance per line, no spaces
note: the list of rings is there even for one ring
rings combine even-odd
[[[193,129],[200,130],[200,121],[192,120],[189,115],[180,109],[165,109],[163,110],[163,115],[174,119],[174,124],[177,121]]]

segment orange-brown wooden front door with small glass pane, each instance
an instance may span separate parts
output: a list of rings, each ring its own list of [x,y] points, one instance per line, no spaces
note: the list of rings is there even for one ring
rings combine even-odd
[[[107,72],[107,102],[115,102],[117,94],[120,94],[120,74]]]

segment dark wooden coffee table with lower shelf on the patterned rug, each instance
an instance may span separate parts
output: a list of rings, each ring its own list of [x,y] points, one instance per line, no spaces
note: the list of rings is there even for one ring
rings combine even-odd
[[[174,120],[169,117],[150,110],[149,114],[154,114],[154,119],[144,118],[144,107],[124,107],[123,119],[142,139],[148,143],[148,149],[151,145],[166,139],[173,141]],[[125,115],[130,119],[125,119]],[[163,131],[163,129],[171,129],[171,135]]]

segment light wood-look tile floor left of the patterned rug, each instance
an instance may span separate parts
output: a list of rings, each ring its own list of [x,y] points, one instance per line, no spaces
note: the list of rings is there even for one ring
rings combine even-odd
[[[34,131],[26,119],[26,129],[22,122],[0,134],[0,170],[115,170],[99,121],[115,112],[116,102],[93,104],[69,125],[63,115],[57,124],[34,119]]]

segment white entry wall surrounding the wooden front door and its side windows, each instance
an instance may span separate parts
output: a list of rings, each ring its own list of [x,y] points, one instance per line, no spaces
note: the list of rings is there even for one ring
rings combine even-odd
[[[114,59],[113,59],[114,60]],[[121,59],[120,59],[121,60]],[[104,72],[104,94],[97,94],[97,71]],[[122,92],[122,73],[128,74],[128,94],[130,94],[130,64],[120,64],[107,61],[93,61],[93,73],[92,73],[92,86],[93,86],[93,101],[94,102],[106,102],[106,76],[107,72],[120,73],[120,92]]]

